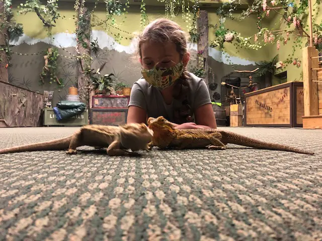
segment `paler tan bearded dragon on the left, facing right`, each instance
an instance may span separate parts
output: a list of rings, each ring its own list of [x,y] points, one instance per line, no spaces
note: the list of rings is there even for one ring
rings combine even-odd
[[[135,151],[148,151],[153,131],[144,123],[120,126],[86,125],[74,134],[57,140],[27,144],[0,150],[0,154],[32,151],[66,150],[66,154],[77,154],[76,148],[92,146],[106,148],[109,156],[139,156]],[[132,152],[126,151],[131,149]]]

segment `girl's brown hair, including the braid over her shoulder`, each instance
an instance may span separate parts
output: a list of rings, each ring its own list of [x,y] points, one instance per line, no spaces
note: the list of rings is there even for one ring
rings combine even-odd
[[[148,24],[143,32],[137,36],[138,48],[137,54],[141,55],[141,44],[145,41],[153,42],[173,42],[176,44],[177,51],[180,54],[181,59],[187,53],[187,36],[180,26],[169,19],[156,19]],[[182,124],[186,122],[192,122],[192,109],[188,101],[189,93],[189,73],[184,70],[181,77],[176,81],[174,86],[174,98],[181,102],[181,106],[174,109],[174,122]]]

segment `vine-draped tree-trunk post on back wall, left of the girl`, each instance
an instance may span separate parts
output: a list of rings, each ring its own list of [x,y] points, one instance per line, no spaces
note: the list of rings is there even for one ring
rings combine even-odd
[[[84,29],[84,35],[83,41],[87,44],[87,47],[84,48],[83,44],[77,40],[77,48],[79,51],[79,56],[82,56],[81,60],[78,62],[78,77],[77,77],[77,88],[78,88],[78,94],[79,98],[86,103],[86,108],[88,109],[90,106],[89,101],[89,86],[90,86],[90,76],[88,73],[86,73],[86,69],[88,69],[88,66],[91,65],[91,12],[84,7],[83,9],[79,8],[78,11],[78,22],[79,22],[79,15],[84,16],[84,21],[86,21],[87,24],[83,24],[81,28],[84,28],[86,26],[87,28]],[[77,26],[77,29],[79,26]]]

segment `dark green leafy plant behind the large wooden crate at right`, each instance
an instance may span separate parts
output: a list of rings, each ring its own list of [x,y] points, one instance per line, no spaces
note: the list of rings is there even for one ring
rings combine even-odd
[[[258,70],[255,72],[254,77],[265,76],[265,88],[272,85],[272,75],[276,71],[276,63],[278,62],[278,55],[271,61],[260,61],[256,63]]]

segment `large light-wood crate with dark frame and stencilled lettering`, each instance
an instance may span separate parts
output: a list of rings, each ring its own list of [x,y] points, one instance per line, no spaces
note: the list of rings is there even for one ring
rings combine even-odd
[[[245,94],[245,126],[302,127],[303,82],[287,82]]]

